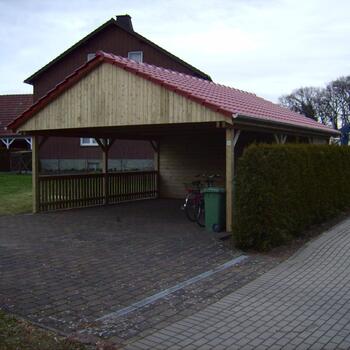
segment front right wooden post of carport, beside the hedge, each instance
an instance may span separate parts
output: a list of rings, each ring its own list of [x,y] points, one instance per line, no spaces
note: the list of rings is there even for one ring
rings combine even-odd
[[[233,175],[234,175],[234,131],[226,129],[226,231],[232,232],[233,223]]]

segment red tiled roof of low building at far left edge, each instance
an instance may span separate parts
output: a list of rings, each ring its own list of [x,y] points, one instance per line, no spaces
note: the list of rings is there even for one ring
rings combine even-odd
[[[0,136],[14,135],[11,130],[5,130],[6,126],[27,110],[32,103],[32,94],[0,95]]]

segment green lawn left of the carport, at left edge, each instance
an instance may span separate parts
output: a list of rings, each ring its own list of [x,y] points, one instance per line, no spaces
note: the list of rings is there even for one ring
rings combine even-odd
[[[0,173],[0,215],[32,210],[32,176]]]

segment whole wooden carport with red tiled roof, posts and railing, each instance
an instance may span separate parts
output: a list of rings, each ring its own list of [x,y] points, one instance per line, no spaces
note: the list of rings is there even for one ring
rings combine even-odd
[[[326,143],[337,133],[254,94],[98,52],[9,128],[33,137],[33,211],[183,198],[183,183],[220,173],[232,230],[234,161],[254,141]],[[95,138],[103,171],[39,175],[50,136]],[[154,170],[109,172],[116,139],[148,140]]]

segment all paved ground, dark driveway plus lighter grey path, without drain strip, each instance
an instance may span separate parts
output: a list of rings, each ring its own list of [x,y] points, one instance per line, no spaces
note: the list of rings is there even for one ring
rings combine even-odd
[[[350,348],[350,220],[240,289],[257,276],[253,259],[94,324],[238,254],[182,220],[178,202],[145,203],[0,217],[2,307],[61,331],[139,339],[128,349]]]

